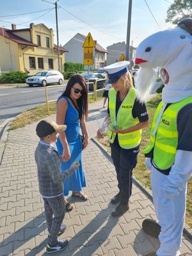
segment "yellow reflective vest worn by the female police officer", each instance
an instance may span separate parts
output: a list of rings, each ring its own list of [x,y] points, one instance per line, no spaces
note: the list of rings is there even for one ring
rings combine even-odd
[[[136,99],[136,90],[130,88],[129,92],[125,96],[118,113],[116,115],[116,92],[114,89],[109,90],[109,115],[112,124],[118,125],[122,130],[132,127],[138,124],[140,121],[138,118],[133,118],[132,107]],[[110,142],[115,140],[116,133],[108,132]],[[141,129],[134,132],[127,132],[125,134],[118,133],[118,143],[122,148],[134,148],[140,144],[141,141]]]

